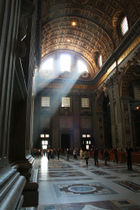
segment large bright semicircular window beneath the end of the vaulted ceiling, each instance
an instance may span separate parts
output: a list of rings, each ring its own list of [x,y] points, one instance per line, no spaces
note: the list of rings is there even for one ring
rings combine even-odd
[[[68,74],[64,74],[63,77],[74,72],[75,76],[84,75],[86,77],[85,73],[89,73],[89,65],[79,54],[56,51],[42,61],[39,73],[41,79],[53,79],[65,72]]]

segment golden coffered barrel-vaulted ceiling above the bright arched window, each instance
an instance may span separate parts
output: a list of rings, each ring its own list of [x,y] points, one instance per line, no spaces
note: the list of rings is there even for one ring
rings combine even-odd
[[[129,12],[130,2],[43,0],[42,59],[56,51],[74,52],[89,64],[94,78],[100,70],[97,55],[102,55],[105,63],[119,45],[117,24]],[[138,1],[134,2],[136,6]],[[72,26],[73,21],[75,26]]]

